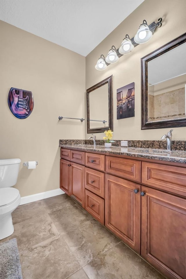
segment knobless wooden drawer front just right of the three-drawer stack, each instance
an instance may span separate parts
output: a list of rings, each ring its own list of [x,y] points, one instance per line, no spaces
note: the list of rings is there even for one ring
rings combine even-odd
[[[105,171],[133,181],[141,181],[141,162],[105,156]]]

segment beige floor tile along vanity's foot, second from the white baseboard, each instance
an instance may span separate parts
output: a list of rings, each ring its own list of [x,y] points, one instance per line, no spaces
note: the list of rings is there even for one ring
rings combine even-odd
[[[78,204],[70,207],[49,213],[53,223],[58,228],[59,232],[64,232],[70,228],[79,226],[81,223],[93,219],[81,206]]]

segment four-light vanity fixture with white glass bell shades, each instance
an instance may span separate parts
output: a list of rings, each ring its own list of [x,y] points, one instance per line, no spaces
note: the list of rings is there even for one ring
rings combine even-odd
[[[107,57],[105,58],[103,54],[98,59],[98,62],[95,66],[97,70],[105,70],[108,65],[113,64],[119,60],[119,57],[124,54],[128,54],[134,50],[138,44],[144,44],[148,42],[152,35],[154,34],[156,28],[162,26],[162,18],[158,19],[158,22],[152,22],[150,25],[147,24],[144,19],[143,23],[140,25],[136,35],[130,39],[127,34],[121,43],[121,47],[116,49],[115,46],[112,46],[112,49],[109,50]]]

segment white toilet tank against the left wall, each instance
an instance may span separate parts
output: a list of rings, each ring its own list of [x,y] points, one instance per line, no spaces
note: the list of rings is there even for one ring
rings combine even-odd
[[[12,187],[17,182],[20,159],[0,160],[0,188]]]

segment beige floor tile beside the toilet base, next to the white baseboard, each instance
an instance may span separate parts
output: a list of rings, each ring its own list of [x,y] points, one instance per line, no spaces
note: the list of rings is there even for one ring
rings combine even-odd
[[[43,208],[41,201],[19,205],[18,208],[12,212],[13,224],[36,218],[43,214],[46,214],[46,210]]]

